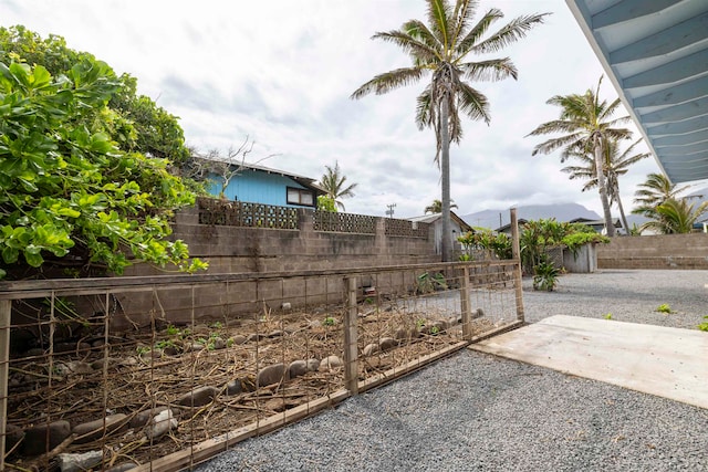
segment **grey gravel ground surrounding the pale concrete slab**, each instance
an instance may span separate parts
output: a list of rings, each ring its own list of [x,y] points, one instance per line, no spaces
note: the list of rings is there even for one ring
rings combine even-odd
[[[569,274],[554,293],[530,283],[531,323],[612,313],[695,328],[708,314],[708,271]],[[665,303],[676,313],[655,312]],[[708,410],[464,349],[196,470],[708,471]]]

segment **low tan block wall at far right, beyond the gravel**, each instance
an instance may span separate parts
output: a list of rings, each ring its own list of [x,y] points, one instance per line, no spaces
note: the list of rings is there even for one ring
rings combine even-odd
[[[708,269],[708,234],[612,238],[597,244],[600,269]]]

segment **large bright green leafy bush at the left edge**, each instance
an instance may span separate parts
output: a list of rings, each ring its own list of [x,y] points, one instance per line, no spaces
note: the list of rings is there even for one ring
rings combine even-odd
[[[167,241],[194,193],[167,160],[112,139],[134,128],[107,106],[122,86],[111,67],[79,54],[53,76],[18,53],[0,57],[0,277],[119,274],[136,261],[204,268]]]

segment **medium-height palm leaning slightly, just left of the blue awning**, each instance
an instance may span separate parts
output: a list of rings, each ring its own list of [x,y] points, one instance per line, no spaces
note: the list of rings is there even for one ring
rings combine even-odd
[[[559,119],[544,123],[529,133],[528,136],[546,135],[551,133],[564,133],[563,136],[551,138],[537,145],[532,156],[537,154],[550,154],[556,149],[563,149],[561,162],[564,162],[573,153],[592,153],[595,158],[597,169],[597,189],[605,219],[607,235],[615,234],[615,225],[612,222],[610,212],[610,200],[607,199],[607,183],[605,181],[603,160],[603,149],[607,141],[617,141],[631,136],[631,132],[625,128],[617,128],[621,123],[629,120],[629,116],[612,119],[612,115],[617,111],[622,102],[616,98],[611,104],[607,101],[600,101],[600,85],[593,92],[587,90],[583,95],[555,95],[546,103],[561,107]]]

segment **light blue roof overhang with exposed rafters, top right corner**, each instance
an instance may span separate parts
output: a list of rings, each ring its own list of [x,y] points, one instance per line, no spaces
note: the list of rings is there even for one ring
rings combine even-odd
[[[708,0],[565,0],[657,164],[708,179]]]

